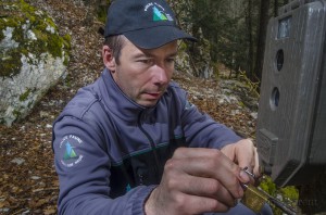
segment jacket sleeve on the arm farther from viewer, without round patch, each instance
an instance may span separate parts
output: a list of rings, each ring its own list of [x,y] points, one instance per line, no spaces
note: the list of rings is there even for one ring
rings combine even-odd
[[[187,100],[186,92],[178,94],[181,96],[181,124],[189,147],[222,149],[241,139],[230,128],[201,113]]]

